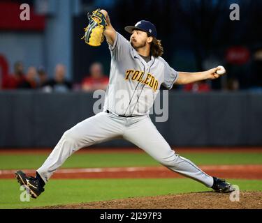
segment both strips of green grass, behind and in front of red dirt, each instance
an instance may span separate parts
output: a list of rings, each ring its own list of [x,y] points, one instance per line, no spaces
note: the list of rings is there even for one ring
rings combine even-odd
[[[196,164],[262,164],[262,153],[184,153]],[[0,169],[36,169],[48,154],[0,155]],[[62,167],[150,167],[159,165],[146,153],[75,153]],[[228,180],[240,190],[262,190],[262,180]],[[0,180],[0,208],[29,208],[128,197],[209,191],[189,178],[50,180],[45,192],[20,201],[16,180]]]

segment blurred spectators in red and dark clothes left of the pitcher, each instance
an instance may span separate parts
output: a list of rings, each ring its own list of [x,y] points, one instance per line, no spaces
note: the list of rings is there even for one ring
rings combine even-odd
[[[17,61],[14,65],[14,73],[2,78],[1,90],[27,89],[49,92],[68,91],[95,91],[105,90],[108,86],[109,77],[103,74],[101,63],[92,63],[89,74],[82,79],[81,83],[73,83],[66,79],[66,66],[57,64],[54,74],[50,78],[44,67],[31,66],[24,72],[24,65]]]

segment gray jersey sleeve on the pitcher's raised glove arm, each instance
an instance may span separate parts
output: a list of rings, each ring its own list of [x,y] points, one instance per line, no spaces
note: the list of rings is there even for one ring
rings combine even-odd
[[[124,59],[127,54],[130,54],[131,44],[128,40],[126,40],[126,38],[124,38],[124,36],[117,33],[115,42],[113,45],[108,43],[108,47],[110,49],[112,59],[121,61],[121,59]]]

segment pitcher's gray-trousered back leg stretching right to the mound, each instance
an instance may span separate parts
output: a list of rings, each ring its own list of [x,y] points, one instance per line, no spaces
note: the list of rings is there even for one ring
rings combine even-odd
[[[126,130],[124,139],[142,148],[168,169],[212,187],[212,176],[205,174],[190,160],[175,154],[150,118],[145,118]]]

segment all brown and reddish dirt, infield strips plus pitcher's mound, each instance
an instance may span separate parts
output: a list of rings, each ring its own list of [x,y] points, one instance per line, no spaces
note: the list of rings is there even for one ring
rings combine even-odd
[[[51,149],[8,149],[0,154],[50,153]],[[178,148],[177,153],[262,153],[261,148]],[[82,149],[77,153],[143,153],[138,148]],[[203,171],[220,178],[262,179],[262,165],[203,165]],[[0,178],[13,178],[16,170],[0,170]],[[34,170],[24,170],[34,176]],[[166,167],[121,167],[59,169],[52,178],[181,178],[179,174]],[[168,194],[155,197],[137,197],[96,201],[90,203],[68,204],[41,207],[48,209],[262,209],[262,192],[240,192],[240,201],[231,201],[230,194],[216,192],[198,192],[186,194]]]

